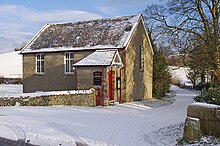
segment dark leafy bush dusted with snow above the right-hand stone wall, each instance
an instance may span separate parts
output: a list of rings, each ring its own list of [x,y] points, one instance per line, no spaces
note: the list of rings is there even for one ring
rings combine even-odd
[[[210,87],[207,90],[203,90],[201,94],[196,96],[194,99],[197,102],[206,102],[220,105],[220,86]]]

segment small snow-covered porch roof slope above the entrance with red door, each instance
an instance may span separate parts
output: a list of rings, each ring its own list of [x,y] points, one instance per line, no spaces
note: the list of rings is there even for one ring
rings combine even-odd
[[[73,66],[110,66],[117,50],[97,50]]]

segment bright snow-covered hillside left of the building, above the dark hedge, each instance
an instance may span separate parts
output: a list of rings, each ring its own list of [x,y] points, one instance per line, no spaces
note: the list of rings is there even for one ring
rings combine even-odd
[[[0,54],[0,77],[22,77],[22,55],[19,52]]]

